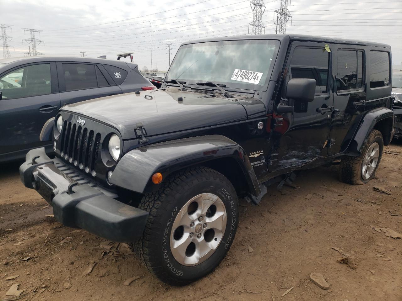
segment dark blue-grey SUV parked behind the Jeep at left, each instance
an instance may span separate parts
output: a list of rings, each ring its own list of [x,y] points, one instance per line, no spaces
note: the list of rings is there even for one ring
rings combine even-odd
[[[152,89],[137,64],[105,59],[20,57],[0,60],[0,162],[46,146],[43,124],[62,106]]]

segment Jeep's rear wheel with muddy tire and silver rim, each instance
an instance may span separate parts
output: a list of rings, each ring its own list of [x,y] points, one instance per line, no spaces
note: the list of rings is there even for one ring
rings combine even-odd
[[[383,147],[381,132],[372,130],[361,148],[361,155],[345,156],[340,161],[340,180],[360,185],[373,179],[381,161]]]

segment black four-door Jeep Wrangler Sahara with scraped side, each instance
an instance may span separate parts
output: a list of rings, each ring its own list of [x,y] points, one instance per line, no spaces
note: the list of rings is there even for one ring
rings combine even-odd
[[[375,177],[390,143],[388,45],[299,35],[180,46],[162,87],[64,106],[41,132],[56,157],[20,167],[62,224],[133,242],[161,281],[185,285],[228,252],[238,198],[340,160]]]

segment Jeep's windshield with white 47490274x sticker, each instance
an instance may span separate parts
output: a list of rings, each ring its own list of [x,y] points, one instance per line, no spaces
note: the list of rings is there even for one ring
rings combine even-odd
[[[213,81],[226,87],[262,90],[279,48],[277,40],[219,41],[183,45],[165,81]]]

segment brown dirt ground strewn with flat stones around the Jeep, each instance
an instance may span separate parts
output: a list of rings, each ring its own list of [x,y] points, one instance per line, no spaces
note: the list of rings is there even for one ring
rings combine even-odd
[[[160,283],[125,244],[46,217],[51,207],[23,187],[19,164],[0,165],[0,300],[14,298],[6,292],[18,283],[21,300],[401,301],[402,239],[382,229],[402,233],[402,144],[385,151],[366,185],[340,183],[334,165],[300,173],[299,189],[270,187],[259,206],[241,200],[228,256],[187,287]],[[349,265],[337,262],[347,254]],[[329,290],[310,281],[312,272]]]

